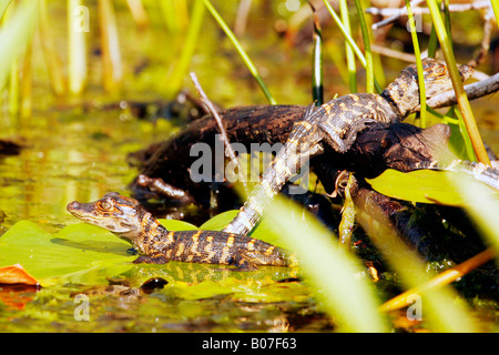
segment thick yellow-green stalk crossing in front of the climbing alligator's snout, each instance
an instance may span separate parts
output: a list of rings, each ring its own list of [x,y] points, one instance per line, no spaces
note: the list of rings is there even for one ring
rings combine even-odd
[[[461,110],[461,114],[465,120],[466,129],[471,139],[475,153],[477,154],[479,162],[490,165],[490,160],[483,146],[480,132],[478,131],[477,122],[475,121],[475,116],[471,111],[468,97],[466,95],[465,89],[462,87],[461,77],[456,65],[456,59],[454,57],[454,52],[450,47],[450,40],[447,34],[444,21],[440,17],[440,11],[438,9],[437,2],[436,0],[428,0],[427,4],[431,13],[431,19],[434,21],[435,30],[437,31],[438,36],[438,41],[440,42],[444,58],[446,60],[447,68],[449,69],[450,72],[450,79],[452,80],[454,91],[456,93],[459,109]]]

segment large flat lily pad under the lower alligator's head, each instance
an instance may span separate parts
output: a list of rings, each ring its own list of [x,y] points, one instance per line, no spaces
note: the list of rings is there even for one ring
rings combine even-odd
[[[193,224],[163,220],[166,229],[195,230]],[[106,283],[134,265],[131,245],[111,232],[85,223],[49,233],[30,221],[16,223],[0,237],[0,266],[21,264],[42,286],[72,282]]]

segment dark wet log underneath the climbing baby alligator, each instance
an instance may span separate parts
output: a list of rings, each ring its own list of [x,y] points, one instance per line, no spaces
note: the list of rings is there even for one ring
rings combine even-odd
[[[228,140],[242,143],[249,150],[249,144],[255,142],[284,143],[293,124],[303,116],[306,109],[301,105],[244,106],[221,112],[221,116]],[[153,144],[131,158],[140,162],[141,174],[161,178],[174,186],[175,191],[184,191],[193,199],[189,201],[195,201],[206,207],[211,196],[210,184],[192,181],[190,168],[198,156],[191,156],[190,150],[197,142],[204,142],[214,149],[216,134],[218,129],[215,120],[206,115],[190,123],[173,139]],[[310,169],[328,193],[335,191],[339,172],[344,170],[355,172],[360,182],[354,193],[356,204],[363,205],[363,202],[368,200],[369,204],[376,205],[377,211],[381,211],[390,225],[411,245],[417,246],[426,255],[435,254],[438,253],[436,246],[429,245],[422,237],[428,232],[428,225],[425,225],[425,222],[418,225],[410,217],[415,207],[373,191],[363,183],[363,178],[377,176],[386,169],[411,171],[421,162],[435,161],[437,155],[441,156],[442,151],[447,152],[448,159],[455,159],[447,148],[449,136],[450,129],[445,124],[436,124],[424,130],[408,123],[375,122],[359,132],[348,152],[338,153],[328,149],[324,154],[310,160]],[[138,184],[138,179],[132,183],[132,187],[135,193],[143,190]],[[231,207],[233,206],[226,206]],[[455,215],[455,210],[450,209],[451,213],[446,216],[450,219]]]

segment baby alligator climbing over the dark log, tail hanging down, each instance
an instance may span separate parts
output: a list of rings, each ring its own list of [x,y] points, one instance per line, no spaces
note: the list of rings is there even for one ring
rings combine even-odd
[[[447,67],[434,59],[422,60],[427,97],[452,88]],[[468,79],[472,69],[459,68],[461,78]],[[419,105],[419,88],[416,65],[409,65],[381,94],[347,94],[317,109],[310,108],[303,120],[295,123],[285,145],[277,153],[262,182],[254,189],[237,216],[223,230],[246,235],[263,210],[297,170],[314,155],[324,152],[324,143],[345,153],[357,133],[370,122],[396,123],[404,120]]]

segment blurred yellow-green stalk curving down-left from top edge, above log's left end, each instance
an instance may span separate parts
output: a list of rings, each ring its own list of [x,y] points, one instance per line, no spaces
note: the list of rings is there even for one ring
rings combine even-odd
[[[171,71],[171,74],[166,80],[166,98],[173,98],[173,95],[181,90],[182,82],[189,71],[192,55],[196,49],[197,38],[200,37],[201,26],[203,23],[204,11],[205,9],[203,1],[195,0],[187,34],[182,48],[182,53],[179,61],[175,63],[175,68]]]

